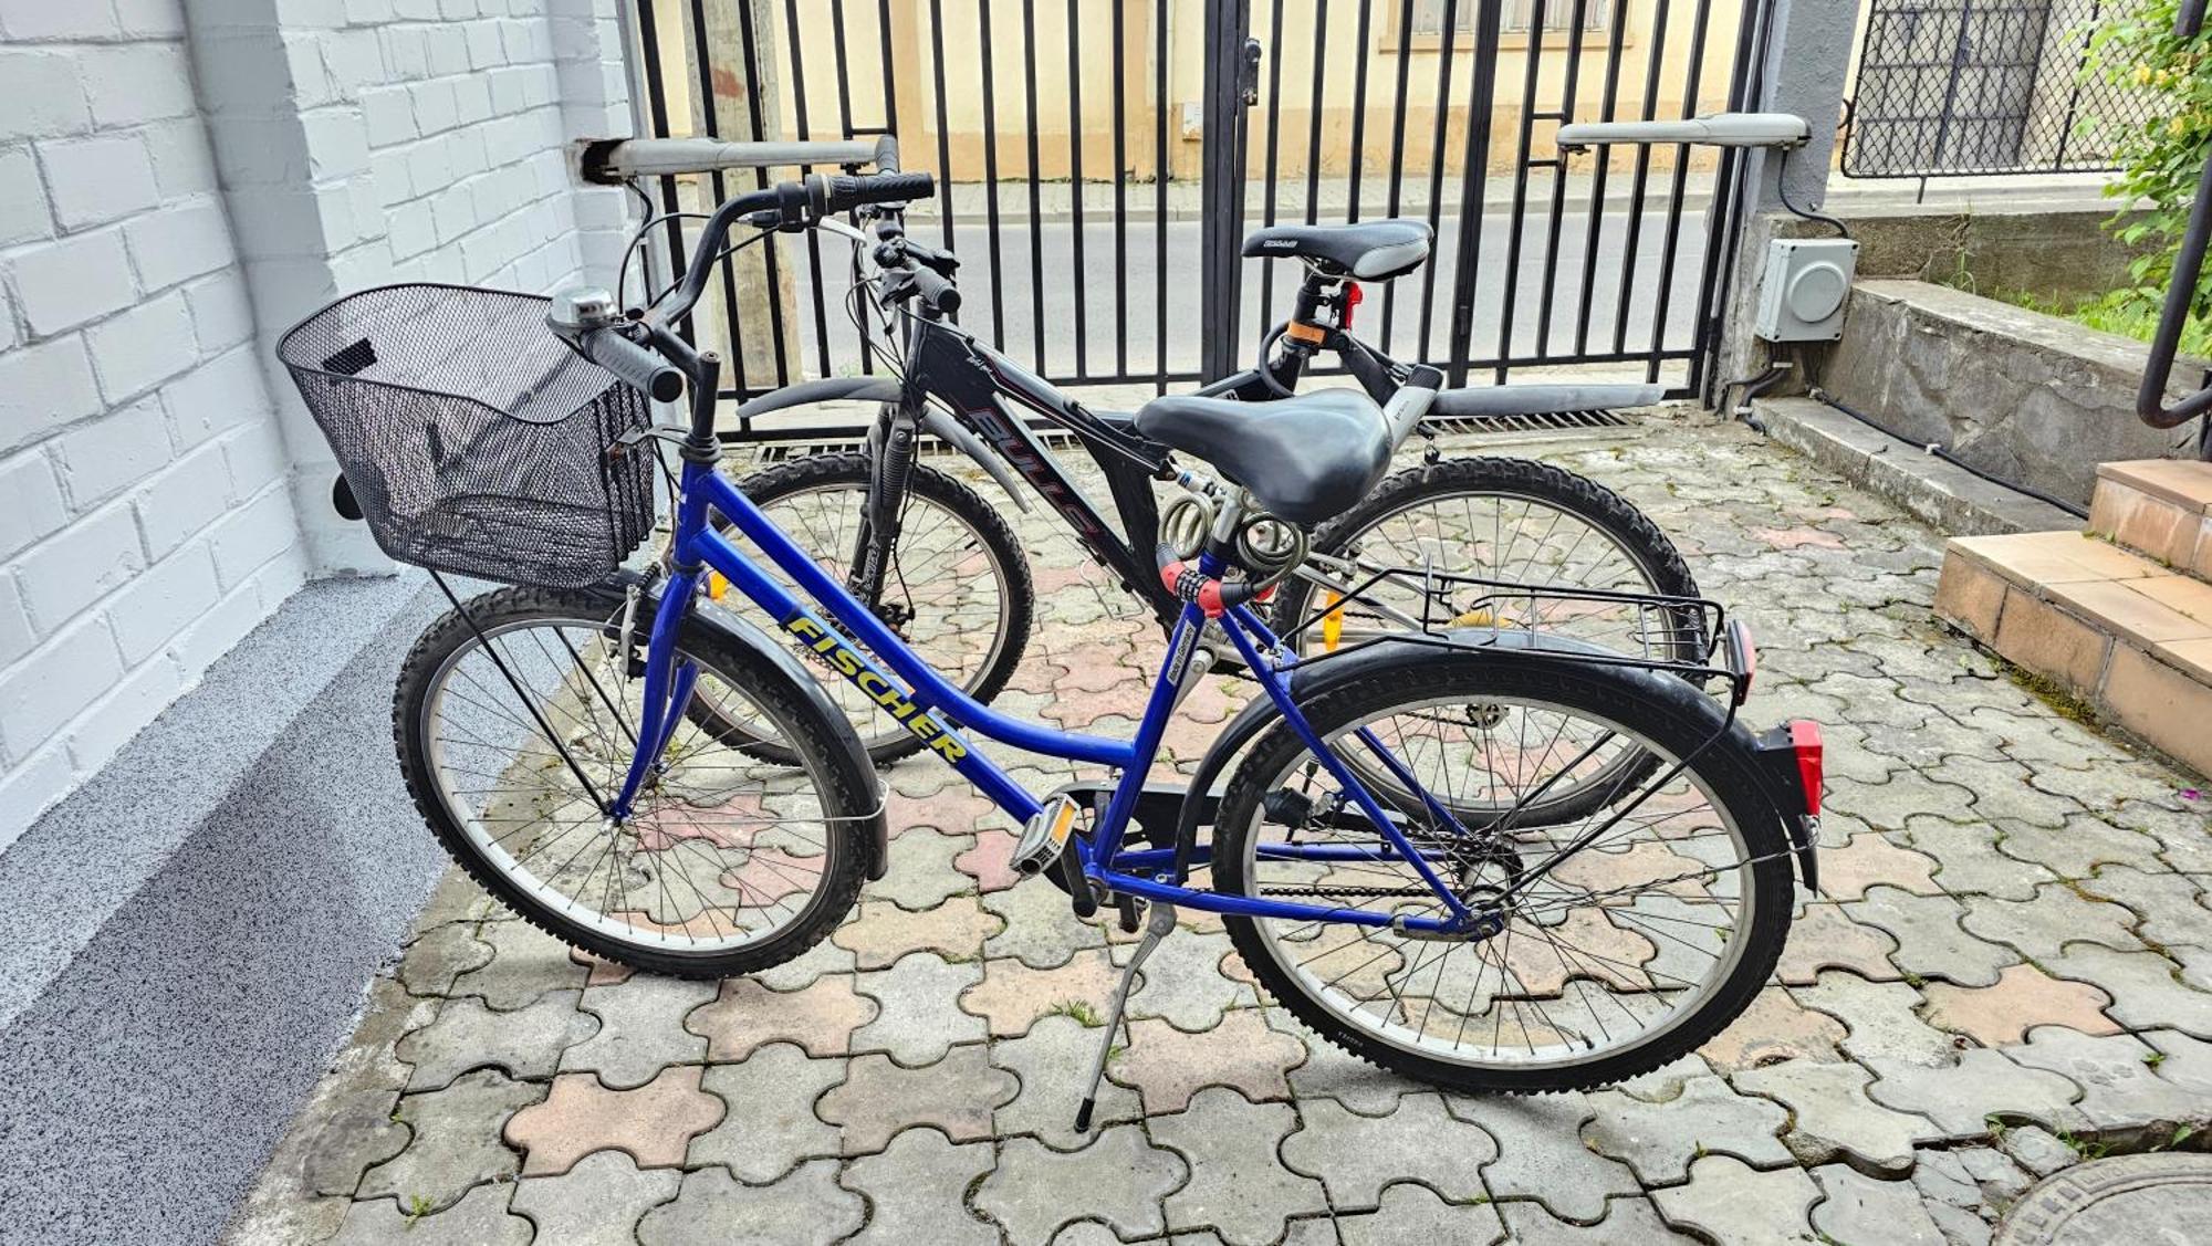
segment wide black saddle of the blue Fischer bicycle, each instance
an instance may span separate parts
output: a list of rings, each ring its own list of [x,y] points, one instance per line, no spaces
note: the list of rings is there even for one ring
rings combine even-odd
[[[1389,468],[1383,409],[1356,389],[1274,402],[1155,398],[1137,431],[1188,451],[1292,524],[1321,524],[1367,497]]]

